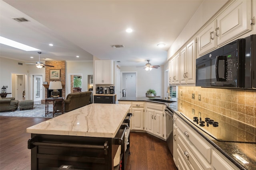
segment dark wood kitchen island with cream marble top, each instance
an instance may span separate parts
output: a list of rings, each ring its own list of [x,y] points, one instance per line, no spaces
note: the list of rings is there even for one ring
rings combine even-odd
[[[124,132],[128,126],[124,119],[129,108],[122,104],[90,104],[28,127],[31,169],[58,169],[65,164],[76,169],[114,170],[119,145],[120,158],[124,160],[126,155]]]

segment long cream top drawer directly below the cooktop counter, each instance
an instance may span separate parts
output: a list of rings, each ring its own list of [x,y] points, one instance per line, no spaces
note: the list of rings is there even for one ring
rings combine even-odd
[[[211,147],[208,146],[202,139],[200,139],[199,135],[192,132],[189,129],[188,125],[186,125],[182,120],[176,120],[176,124],[179,129],[182,131],[181,133],[188,139],[199,152],[211,163]]]

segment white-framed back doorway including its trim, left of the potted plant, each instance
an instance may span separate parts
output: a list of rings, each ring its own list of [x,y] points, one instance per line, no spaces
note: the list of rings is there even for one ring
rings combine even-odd
[[[122,72],[122,89],[126,97],[137,97],[137,72]]]

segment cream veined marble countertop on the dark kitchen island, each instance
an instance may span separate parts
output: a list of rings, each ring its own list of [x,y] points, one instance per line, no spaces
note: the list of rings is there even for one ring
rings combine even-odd
[[[27,128],[27,133],[115,137],[130,105],[89,104]]]

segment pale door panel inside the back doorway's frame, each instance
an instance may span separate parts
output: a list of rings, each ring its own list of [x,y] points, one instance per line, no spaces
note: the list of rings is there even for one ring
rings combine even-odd
[[[136,97],[136,75],[126,75],[126,97]]]

